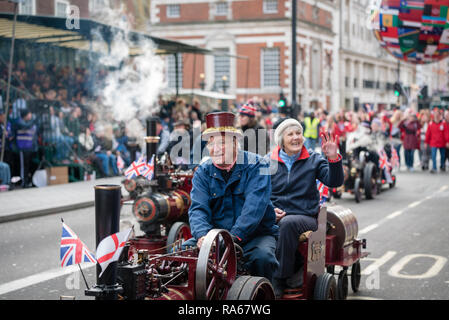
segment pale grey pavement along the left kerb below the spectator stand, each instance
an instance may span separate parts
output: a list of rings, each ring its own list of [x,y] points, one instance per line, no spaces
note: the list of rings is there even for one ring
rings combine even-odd
[[[94,206],[96,185],[120,185],[123,177],[0,192],[0,223]],[[127,192],[122,187],[122,194]]]

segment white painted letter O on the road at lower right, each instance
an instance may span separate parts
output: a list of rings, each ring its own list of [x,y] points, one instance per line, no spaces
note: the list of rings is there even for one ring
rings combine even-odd
[[[413,259],[416,258],[431,258],[435,260],[435,263],[424,273],[422,274],[403,274],[400,271]],[[402,278],[402,279],[426,279],[435,277],[444,267],[447,262],[447,258],[442,256],[436,256],[433,254],[409,254],[403,257],[401,260],[396,262],[390,270],[388,270],[388,274],[392,277]]]

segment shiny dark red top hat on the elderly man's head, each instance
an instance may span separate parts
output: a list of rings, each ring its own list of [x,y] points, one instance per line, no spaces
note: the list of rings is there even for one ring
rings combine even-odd
[[[231,112],[213,112],[206,115],[207,128],[203,132],[203,139],[207,140],[217,134],[231,134],[242,137],[241,130],[234,127],[235,115]]]

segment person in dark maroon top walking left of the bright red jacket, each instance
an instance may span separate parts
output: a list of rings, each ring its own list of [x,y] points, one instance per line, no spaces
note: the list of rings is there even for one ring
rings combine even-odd
[[[408,110],[407,117],[400,122],[399,128],[404,131],[405,164],[409,171],[413,171],[415,150],[419,149],[418,132],[421,126],[412,110]]]

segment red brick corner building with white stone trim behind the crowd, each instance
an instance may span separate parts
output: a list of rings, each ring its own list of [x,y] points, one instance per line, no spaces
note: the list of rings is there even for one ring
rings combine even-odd
[[[338,108],[338,11],[335,1],[300,0],[297,15],[297,102]],[[182,55],[182,87],[290,101],[291,0],[152,0],[154,36],[221,51]],[[239,58],[240,57],[240,58]],[[247,57],[244,59],[242,57]],[[167,57],[173,87],[173,57]],[[181,69],[180,68],[180,69]],[[204,80],[203,80],[204,75]]]

